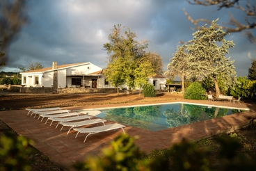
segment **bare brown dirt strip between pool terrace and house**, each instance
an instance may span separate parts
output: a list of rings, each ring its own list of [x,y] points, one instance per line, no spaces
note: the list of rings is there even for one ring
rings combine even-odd
[[[144,98],[131,94],[39,94],[39,95],[1,95],[0,111],[24,108],[49,108],[54,106],[93,106],[98,104],[122,104],[145,101],[170,101],[184,99],[182,95],[158,94],[157,97]]]

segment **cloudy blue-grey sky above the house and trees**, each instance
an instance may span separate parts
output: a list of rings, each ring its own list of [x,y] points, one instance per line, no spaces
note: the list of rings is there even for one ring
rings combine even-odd
[[[248,1],[239,2],[244,6]],[[255,0],[249,2],[256,5]],[[117,24],[136,33],[136,40],[148,40],[146,51],[160,54],[166,71],[177,46],[182,45],[179,41],[192,40],[196,31],[191,29],[194,26],[183,9],[193,19],[218,18],[219,25],[228,22],[232,13],[245,24],[245,15],[239,9],[217,10],[216,6],[195,6],[185,0],[29,0],[26,5],[29,23],[10,45],[8,63],[0,72],[20,72],[18,68],[29,67],[30,63],[51,67],[53,61],[58,65],[90,62],[104,68],[109,59],[103,44],[109,42]],[[256,29],[252,31],[256,35]],[[226,57],[235,60],[237,75],[247,76],[252,63],[247,54],[256,57],[256,44],[242,33],[230,33],[225,40],[235,44]]]

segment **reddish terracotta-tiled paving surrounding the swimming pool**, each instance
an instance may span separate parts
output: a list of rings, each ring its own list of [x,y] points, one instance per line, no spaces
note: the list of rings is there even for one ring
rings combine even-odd
[[[138,129],[136,127],[127,125],[127,127],[125,127],[125,132],[129,134],[129,136],[138,136],[136,145],[138,145],[141,150],[150,153],[153,149],[166,149],[170,147],[170,145],[173,145],[173,143],[182,140],[182,138],[189,140],[200,140],[201,138],[207,138],[223,131],[237,129],[238,127],[248,124],[250,117],[255,117],[256,115],[255,104],[231,104],[230,102],[207,100],[194,101],[187,99],[184,99],[184,101],[215,106],[250,108],[251,110],[156,132]],[[170,102],[177,101],[172,100]],[[142,102],[139,104],[154,103]],[[67,108],[72,111],[76,111],[89,108],[97,109],[104,107],[133,105],[134,104],[109,104]],[[86,137],[85,133],[79,133],[78,137],[74,138],[76,135],[75,131],[71,131],[67,135],[67,127],[64,127],[63,131],[60,131],[61,127],[55,129],[57,124],[56,122],[49,126],[49,122],[47,124],[45,124],[45,122],[40,122],[40,120],[30,117],[30,115],[26,115],[27,113],[28,111],[25,110],[1,111],[0,119],[8,124],[8,126],[16,131],[19,135],[26,136],[27,138],[34,140],[35,148],[39,149],[43,154],[49,156],[52,161],[63,165],[65,168],[70,168],[74,162],[83,160],[88,154],[98,155],[102,147],[109,145],[111,140],[118,136],[118,134],[122,133],[122,129],[106,131],[104,133],[96,133],[88,136],[86,142],[83,142],[84,138]],[[106,124],[110,123],[113,122],[106,122]]]

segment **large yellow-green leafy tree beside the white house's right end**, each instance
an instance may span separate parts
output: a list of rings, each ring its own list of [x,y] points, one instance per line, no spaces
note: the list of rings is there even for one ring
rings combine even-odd
[[[113,26],[113,32],[109,35],[109,43],[103,46],[109,54],[105,76],[111,85],[117,88],[125,83],[129,88],[135,88],[143,83],[141,78],[144,74],[146,76],[154,74],[149,60],[145,58],[145,49],[148,44],[147,41],[135,40],[135,33],[129,29],[125,31],[125,35],[121,35],[121,31],[120,24]],[[145,66],[147,66],[147,72],[145,72]],[[141,70],[138,70],[139,67]],[[147,79],[147,77],[144,78]]]

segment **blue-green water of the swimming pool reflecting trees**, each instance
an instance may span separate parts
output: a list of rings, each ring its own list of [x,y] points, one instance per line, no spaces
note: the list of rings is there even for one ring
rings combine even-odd
[[[100,111],[102,113],[95,115],[96,117],[150,131],[179,127],[184,124],[242,112],[238,109],[198,106],[194,104],[162,104],[111,108]]]

